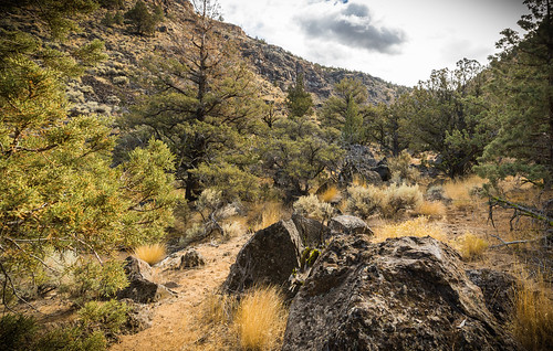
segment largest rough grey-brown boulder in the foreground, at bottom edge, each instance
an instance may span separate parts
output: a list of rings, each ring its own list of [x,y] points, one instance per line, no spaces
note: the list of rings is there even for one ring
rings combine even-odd
[[[430,237],[336,236],[292,301],[282,350],[518,350],[462,266]]]

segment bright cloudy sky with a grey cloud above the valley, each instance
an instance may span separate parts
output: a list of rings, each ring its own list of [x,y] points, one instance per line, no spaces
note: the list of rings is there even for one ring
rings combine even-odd
[[[225,21],[309,61],[413,86],[463,57],[486,64],[522,0],[219,0]]]

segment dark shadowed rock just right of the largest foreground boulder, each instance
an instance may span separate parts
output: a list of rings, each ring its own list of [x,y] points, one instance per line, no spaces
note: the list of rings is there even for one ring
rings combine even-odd
[[[501,323],[507,322],[513,311],[517,279],[508,273],[487,268],[467,270],[467,276],[482,290],[488,310]]]

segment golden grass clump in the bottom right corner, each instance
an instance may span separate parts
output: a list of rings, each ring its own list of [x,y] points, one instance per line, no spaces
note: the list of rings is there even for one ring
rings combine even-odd
[[[553,300],[551,285],[539,275],[535,281],[522,278],[514,298],[511,331],[526,350],[551,350],[553,345]]]

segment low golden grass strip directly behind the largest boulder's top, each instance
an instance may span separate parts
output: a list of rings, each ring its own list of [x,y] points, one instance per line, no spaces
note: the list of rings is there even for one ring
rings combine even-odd
[[[388,237],[400,236],[431,236],[444,243],[448,241],[444,230],[438,224],[430,223],[425,216],[419,216],[398,224],[386,224],[380,228],[375,228],[376,242],[383,242]]]

